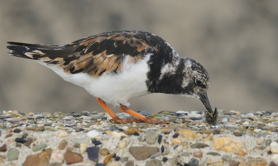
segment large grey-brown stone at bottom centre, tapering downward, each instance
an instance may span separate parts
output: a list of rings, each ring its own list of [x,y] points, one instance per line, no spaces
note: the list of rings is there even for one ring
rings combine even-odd
[[[130,147],[129,151],[136,160],[146,160],[159,151],[158,147]]]

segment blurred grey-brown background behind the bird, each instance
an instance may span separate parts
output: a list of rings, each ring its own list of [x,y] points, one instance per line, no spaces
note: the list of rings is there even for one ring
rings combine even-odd
[[[0,109],[104,111],[95,97],[47,67],[9,56],[6,42],[66,44],[106,31],[141,30],[204,65],[213,108],[278,110],[277,6],[278,1],[1,1]],[[131,109],[149,113],[205,109],[199,99],[170,94],[130,103]]]

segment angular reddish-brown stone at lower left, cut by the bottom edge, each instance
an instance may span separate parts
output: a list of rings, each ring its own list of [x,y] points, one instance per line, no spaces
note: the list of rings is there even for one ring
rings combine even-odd
[[[26,157],[26,160],[22,164],[23,166],[47,166],[49,164],[51,149],[47,149],[38,154],[29,155]]]

